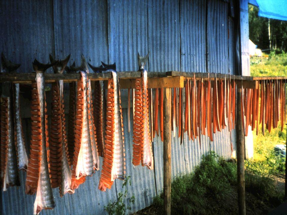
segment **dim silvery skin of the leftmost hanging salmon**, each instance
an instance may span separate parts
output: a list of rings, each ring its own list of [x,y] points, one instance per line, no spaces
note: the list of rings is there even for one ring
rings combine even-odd
[[[8,144],[7,144],[7,163],[3,179],[3,191],[7,191],[8,186],[20,186],[19,173],[17,167],[16,148],[14,144],[14,132],[12,124],[11,98],[7,97],[8,111]],[[2,173],[3,174],[3,173]]]

